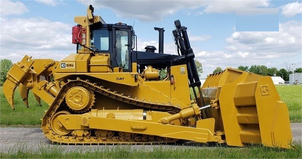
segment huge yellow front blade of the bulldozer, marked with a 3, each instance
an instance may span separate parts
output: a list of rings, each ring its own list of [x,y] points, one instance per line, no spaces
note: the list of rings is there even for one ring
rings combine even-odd
[[[219,101],[220,109],[209,114],[224,130],[228,145],[291,148],[288,109],[271,77],[227,68],[210,75],[202,89],[207,102]]]

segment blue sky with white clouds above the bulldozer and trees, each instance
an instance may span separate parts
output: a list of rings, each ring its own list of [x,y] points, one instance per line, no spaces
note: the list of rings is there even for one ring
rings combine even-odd
[[[138,51],[158,51],[153,27],[163,27],[164,53],[177,54],[172,30],[180,20],[203,65],[201,78],[216,67],[302,67],[301,0],[0,0],[0,59],[60,61],[76,53],[74,16],[86,16],[89,4],[107,24],[133,26]]]

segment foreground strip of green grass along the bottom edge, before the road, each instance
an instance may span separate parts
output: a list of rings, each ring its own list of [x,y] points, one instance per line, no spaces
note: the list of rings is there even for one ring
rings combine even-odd
[[[0,158],[28,158],[28,159],[301,159],[301,144],[296,149],[282,150],[276,148],[254,145],[250,147],[181,147],[153,146],[133,149],[130,145],[116,145],[114,147],[102,147],[97,150],[90,150],[89,146],[85,151],[65,152],[58,147],[39,146],[38,151],[30,148],[14,148],[9,153],[0,153]]]

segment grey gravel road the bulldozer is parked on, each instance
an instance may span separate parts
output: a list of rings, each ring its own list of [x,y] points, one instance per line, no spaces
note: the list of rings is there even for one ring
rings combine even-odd
[[[302,143],[302,123],[291,124],[293,140]],[[131,145],[131,149],[150,149],[158,145]],[[160,145],[163,148],[178,148],[178,145]],[[190,145],[188,145],[190,146]],[[93,151],[96,149],[111,149],[113,145],[54,145],[44,138],[44,134],[40,128],[0,128],[0,152],[9,153],[18,150],[38,151],[39,149],[51,149],[53,147],[60,148],[65,152],[69,151]],[[184,146],[181,146],[184,147]]]

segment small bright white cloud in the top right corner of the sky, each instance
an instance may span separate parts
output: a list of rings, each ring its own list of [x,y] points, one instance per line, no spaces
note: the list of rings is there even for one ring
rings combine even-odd
[[[280,8],[281,14],[286,17],[292,17],[296,14],[302,13],[302,3],[299,1],[285,4]]]

